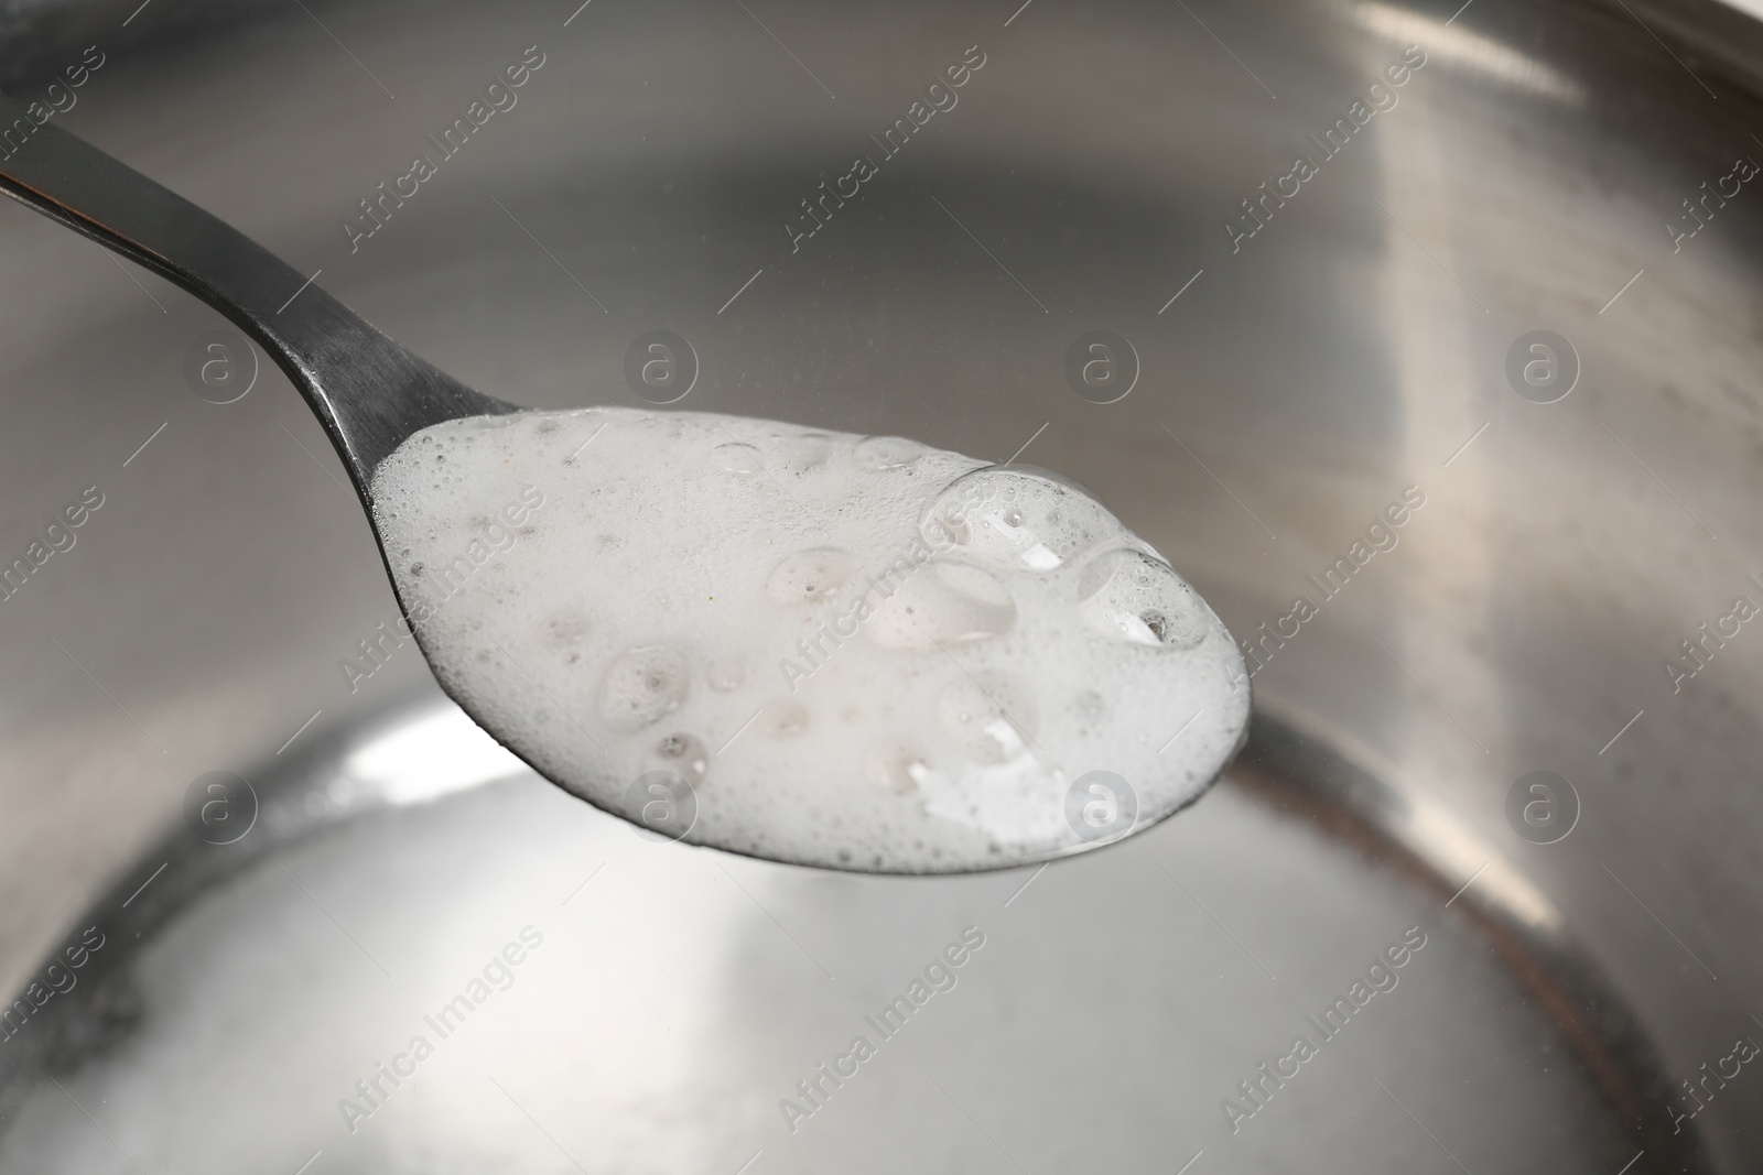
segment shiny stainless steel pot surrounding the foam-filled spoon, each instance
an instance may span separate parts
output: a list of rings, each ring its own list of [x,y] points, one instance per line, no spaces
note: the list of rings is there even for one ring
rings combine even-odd
[[[0,553],[106,493],[0,602],[5,987],[108,935],[0,1043],[0,1170],[1752,1170],[1763,196],[1721,192],[1763,155],[1758,26],[748,9],[256,9],[136,42],[155,4],[26,56],[108,37],[69,129],[511,402],[638,403],[626,347],[668,328],[702,359],[679,407],[1031,442],[1264,641],[1238,768],[1040,874],[645,842],[476,757],[413,650],[351,692],[395,602],[294,391],[205,403],[210,312],[0,210]],[[520,104],[351,254],[338,222],[531,44]],[[973,44],[959,104],[792,250]],[[1410,44],[1400,102],[1232,252]],[[1098,328],[1142,365],[1116,403],[1065,379]],[[1539,329],[1578,359],[1551,403],[1507,375]],[[1400,543],[1322,592],[1407,486]],[[234,846],[180,816],[210,770],[263,800]],[[1578,796],[1550,844],[1507,816],[1537,770]],[[515,983],[351,1133],[354,1082],[525,925]],[[792,1133],[779,1101],[968,925],[959,983]],[[1232,1131],[1409,927],[1400,985]]]

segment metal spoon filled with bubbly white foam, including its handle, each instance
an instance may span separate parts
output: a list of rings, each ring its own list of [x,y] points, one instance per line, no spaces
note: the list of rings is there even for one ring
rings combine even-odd
[[[1243,743],[1231,634],[1058,474],[732,416],[518,409],[55,125],[0,160],[0,190],[263,345],[342,456],[443,689],[649,835],[864,872],[1024,865],[1149,828]]]

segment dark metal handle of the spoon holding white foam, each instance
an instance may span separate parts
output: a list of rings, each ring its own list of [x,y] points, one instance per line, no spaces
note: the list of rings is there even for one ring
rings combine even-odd
[[[324,423],[363,502],[374,469],[413,432],[517,410],[418,359],[238,229],[33,109],[0,95],[0,192],[176,282],[256,340]]]

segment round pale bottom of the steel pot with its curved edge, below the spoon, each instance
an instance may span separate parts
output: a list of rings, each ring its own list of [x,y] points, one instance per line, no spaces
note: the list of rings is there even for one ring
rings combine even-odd
[[[1442,911],[1425,846],[1387,833],[1403,802],[1280,724],[1194,816],[1042,879],[832,876],[643,840],[450,706],[376,715],[254,779],[247,839],[180,830],[146,856],[162,877],[90,911],[108,942],[78,999],[9,1043],[7,1170],[272,1171],[314,1150],[331,1171],[733,1170],[755,1152],[783,1171],[1014,1170],[970,1110],[1051,1170],[1202,1149],[1250,1170],[1310,1149],[1409,1170],[1433,1143],[1363,1122],[1400,1120],[1440,1052],[1458,1096],[1426,1120],[1502,1124],[1453,1140],[1472,1170],[1613,1170],[1631,1140],[1657,1170],[1707,1170],[1645,1115],[1655,1057],[1588,960],[1527,925],[1534,911]],[[1245,854],[1259,876],[1241,876]],[[1123,909],[1123,891],[1157,900]],[[1268,909],[1298,942],[1248,948],[1225,928]],[[525,927],[543,942],[506,987],[437,1022]],[[864,1016],[963,927],[984,946],[883,1039]],[[1306,1016],[1409,927],[1425,944],[1395,987],[1322,1041]],[[1557,1008],[1569,1024],[1550,1024]],[[1252,1105],[1232,1085],[1283,1029],[1326,1062],[1209,1138],[1216,1101]],[[815,1069],[853,1034],[880,1055],[832,1087]],[[376,1106],[354,1082],[416,1036],[434,1053],[400,1066],[407,1083],[381,1078]],[[813,1105],[800,1080],[830,1096],[792,1133],[776,1103]]]

